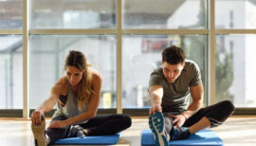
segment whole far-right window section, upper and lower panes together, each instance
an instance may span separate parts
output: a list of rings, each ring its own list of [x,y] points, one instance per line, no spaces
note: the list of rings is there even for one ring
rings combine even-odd
[[[253,0],[215,2],[215,27],[220,29],[215,37],[215,101],[231,100],[236,107],[256,107],[250,83],[256,81],[255,9]]]

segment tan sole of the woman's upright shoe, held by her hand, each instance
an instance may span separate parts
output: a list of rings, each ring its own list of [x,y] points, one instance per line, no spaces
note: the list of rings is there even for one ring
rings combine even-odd
[[[35,138],[35,146],[46,146],[46,136],[45,136],[45,130],[46,130],[46,119],[44,116],[41,117],[41,124],[31,124],[31,129]]]

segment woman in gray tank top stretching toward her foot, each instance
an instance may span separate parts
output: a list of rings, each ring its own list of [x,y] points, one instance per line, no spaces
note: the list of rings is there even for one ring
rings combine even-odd
[[[115,135],[131,126],[127,115],[96,116],[101,98],[101,75],[86,63],[80,51],[69,51],[66,75],[51,88],[50,96],[31,114],[36,146],[46,146],[64,137]],[[46,129],[44,113],[57,110]],[[46,129],[46,130],[45,130]]]

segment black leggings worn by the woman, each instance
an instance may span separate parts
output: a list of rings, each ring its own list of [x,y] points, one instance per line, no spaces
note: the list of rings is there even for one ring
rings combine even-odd
[[[64,120],[63,116],[51,120]],[[122,130],[129,128],[132,119],[128,115],[113,114],[107,116],[97,116],[89,119],[87,122],[80,124],[83,129],[88,131],[86,136],[115,135]],[[64,128],[46,129],[46,135],[49,137],[49,144],[64,137],[70,137],[70,125]]]

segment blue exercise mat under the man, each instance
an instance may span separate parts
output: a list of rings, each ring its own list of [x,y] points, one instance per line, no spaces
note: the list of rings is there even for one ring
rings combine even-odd
[[[173,140],[169,142],[171,146],[223,146],[220,137],[211,130],[201,130],[187,139]],[[142,131],[141,146],[155,146],[155,140],[150,129]]]

